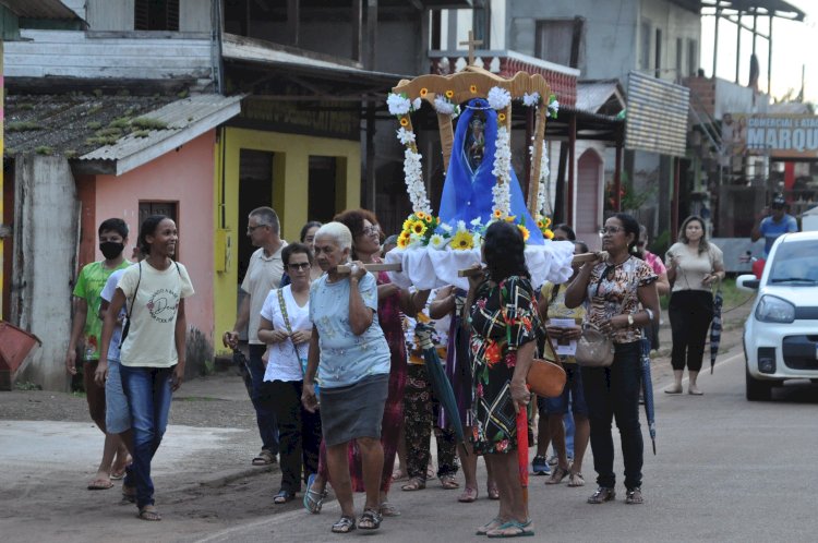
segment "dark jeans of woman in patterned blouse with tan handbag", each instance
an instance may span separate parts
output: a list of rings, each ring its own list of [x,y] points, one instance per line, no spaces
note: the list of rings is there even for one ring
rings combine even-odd
[[[642,433],[639,426],[639,386],[641,383],[641,341],[615,343],[610,367],[582,367],[585,400],[591,423],[591,451],[597,484],[613,488],[614,445],[611,422],[615,418],[622,437],[625,486],[642,484]]]

